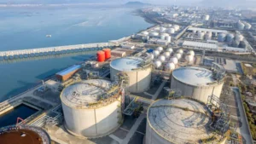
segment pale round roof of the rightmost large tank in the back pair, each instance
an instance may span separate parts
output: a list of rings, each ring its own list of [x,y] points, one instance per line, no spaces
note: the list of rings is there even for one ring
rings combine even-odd
[[[207,86],[215,82],[212,71],[195,66],[177,68],[172,72],[172,76],[185,84],[195,86]]]

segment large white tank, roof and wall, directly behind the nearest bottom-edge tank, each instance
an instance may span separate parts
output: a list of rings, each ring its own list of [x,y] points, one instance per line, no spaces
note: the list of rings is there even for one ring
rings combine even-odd
[[[172,72],[171,89],[180,89],[182,95],[207,103],[209,95],[220,96],[224,81],[216,81],[206,68],[187,66]]]

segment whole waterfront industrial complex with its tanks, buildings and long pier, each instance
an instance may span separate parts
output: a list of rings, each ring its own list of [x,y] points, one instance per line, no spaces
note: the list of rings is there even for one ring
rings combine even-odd
[[[94,50],[1,102],[0,118],[20,105],[35,112],[0,128],[0,143],[253,144],[256,53],[245,35],[253,26],[216,26],[205,10],[142,9],[155,25],[129,37],[1,52],[4,61]]]

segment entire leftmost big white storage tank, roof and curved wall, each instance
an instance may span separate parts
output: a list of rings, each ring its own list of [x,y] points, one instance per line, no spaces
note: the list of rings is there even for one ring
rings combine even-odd
[[[90,79],[62,90],[65,127],[71,134],[95,138],[119,128],[121,100],[119,88],[112,85],[108,80]]]

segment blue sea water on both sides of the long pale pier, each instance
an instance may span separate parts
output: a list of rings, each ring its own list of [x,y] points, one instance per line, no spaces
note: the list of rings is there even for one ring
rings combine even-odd
[[[0,51],[108,42],[151,26],[133,14],[133,10],[88,7],[0,9]],[[52,37],[45,37],[47,34]],[[90,55],[0,63],[0,102]]]

